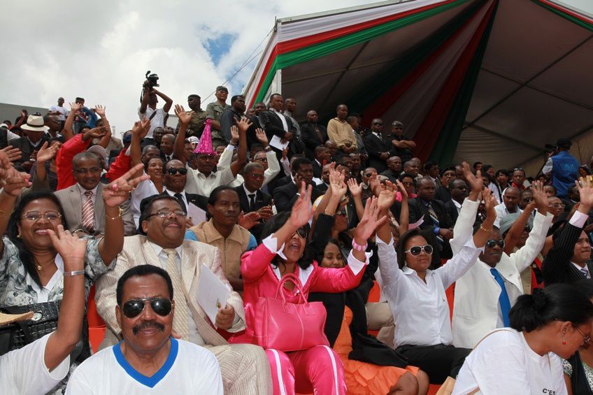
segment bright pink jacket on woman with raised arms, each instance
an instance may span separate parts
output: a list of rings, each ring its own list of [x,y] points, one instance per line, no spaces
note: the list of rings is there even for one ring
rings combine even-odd
[[[247,321],[247,331],[245,333],[247,338],[243,338],[243,341],[250,341],[252,338],[251,328],[253,327],[255,314],[253,309],[259,297],[273,298],[276,296],[280,271],[274,268],[270,262],[277,252],[284,247],[282,245],[276,250],[276,243],[276,238],[269,236],[255,250],[245,252],[241,257],[243,303],[245,304],[245,320]],[[317,261],[313,261],[313,264],[305,270],[296,266],[294,274],[299,276],[301,280],[305,299],[308,298],[309,292],[345,292],[359,285],[364,273],[363,269],[369,264],[369,256],[367,254],[366,261],[361,262],[350,252],[348,266],[343,268],[322,268],[317,265]],[[292,291],[283,288],[282,292],[284,292],[287,301],[292,303],[299,301],[299,296]]]

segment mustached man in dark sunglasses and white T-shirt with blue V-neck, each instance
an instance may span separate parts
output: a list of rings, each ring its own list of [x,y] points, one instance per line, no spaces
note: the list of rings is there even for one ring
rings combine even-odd
[[[117,282],[115,306],[124,340],[78,366],[66,394],[222,395],[214,354],[171,336],[174,296],[162,268],[140,265],[126,271]]]

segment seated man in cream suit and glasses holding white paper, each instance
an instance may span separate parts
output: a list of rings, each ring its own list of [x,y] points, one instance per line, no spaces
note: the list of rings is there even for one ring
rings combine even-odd
[[[219,309],[215,323],[210,322],[197,303],[201,264],[206,264],[230,289],[222,272],[218,249],[183,240],[185,213],[177,199],[171,196],[145,199],[141,203],[139,223],[141,234],[146,236],[126,237],[115,269],[97,282],[97,310],[108,326],[101,347],[113,345],[121,338],[115,318],[117,280],[132,266],[160,266],[171,276],[174,294],[185,295],[185,299],[176,299],[173,331],[183,340],[208,347],[215,354],[220,362],[224,394],[271,394],[271,374],[264,350],[256,345],[229,345],[215,329],[216,326],[230,333],[245,329],[241,297],[231,292],[226,306]]]

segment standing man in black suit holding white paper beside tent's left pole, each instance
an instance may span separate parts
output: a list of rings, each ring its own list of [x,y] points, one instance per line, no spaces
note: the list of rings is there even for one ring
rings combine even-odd
[[[281,94],[275,93],[270,96],[270,109],[259,113],[259,123],[262,124],[268,141],[272,141],[273,136],[278,136],[282,141],[288,141],[288,157],[303,152],[301,140],[296,134],[296,128],[281,112],[284,106],[284,99]],[[278,161],[282,158],[282,151],[273,147]]]

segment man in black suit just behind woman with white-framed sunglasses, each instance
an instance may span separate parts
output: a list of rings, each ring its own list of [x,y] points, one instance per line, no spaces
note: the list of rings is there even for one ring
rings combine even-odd
[[[449,240],[453,237],[453,226],[455,222],[445,210],[442,201],[434,199],[436,186],[431,178],[420,178],[416,182],[416,199],[410,199],[410,224],[420,220],[424,216],[424,222],[420,229],[426,229],[429,234],[434,235],[440,248],[435,249],[434,254],[440,251],[439,258],[448,259],[452,257]],[[428,240],[430,242],[430,240]]]

